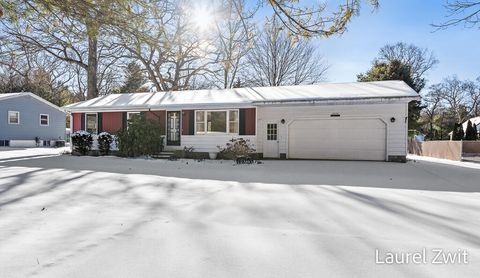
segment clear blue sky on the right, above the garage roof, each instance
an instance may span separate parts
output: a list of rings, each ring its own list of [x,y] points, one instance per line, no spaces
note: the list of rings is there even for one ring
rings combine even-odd
[[[347,32],[314,41],[331,65],[327,80],[355,81],[358,73],[369,69],[383,45],[399,41],[426,47],[440,61],[428,73],[429,85],[455,74],[461,79],[477,78],[480,26],[435,31],[430,24],[445,19],[444,3],[444,0],[380,0],[379,9],[371,12],[364,1],[360,16],[351,21]]]

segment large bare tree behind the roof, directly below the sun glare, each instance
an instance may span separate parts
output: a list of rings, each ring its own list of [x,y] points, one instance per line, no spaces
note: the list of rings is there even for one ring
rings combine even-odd
[[[151,12],[147,24],[120,34],[123,58],[138,61],[157,91],[198,88],[212,79],[219,54],[211,38],[195,32],[189,11],[163,1]]]

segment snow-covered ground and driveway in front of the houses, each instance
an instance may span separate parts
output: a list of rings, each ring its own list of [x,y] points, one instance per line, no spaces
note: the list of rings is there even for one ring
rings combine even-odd
[[[16,152],[0,150],[0,277],[480,273],[479,169]],[[375,264],[376,249],[423,248],[426,264]],[[468,264],[434,265],[432,248]]]

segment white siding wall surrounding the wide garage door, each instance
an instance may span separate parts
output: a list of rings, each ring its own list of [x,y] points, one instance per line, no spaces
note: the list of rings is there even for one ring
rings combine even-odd
[[[261,106],[257,109],[257,151],[263,152],[266,123],[278,123],[279,152],[288,154],[287,128],[290,122],[295,119],[330,119],[332,113],[338,113],[342,119],[378,118],[382,120],[387,127],[386,156],[406,156],[407,107],[406,103]],[[393,123],[390,121],[392,117],[395,118]],[[282,119],[285,120],[285,124],[281,124]],[[352,140],[355,140],[355,134],[352,134]]]

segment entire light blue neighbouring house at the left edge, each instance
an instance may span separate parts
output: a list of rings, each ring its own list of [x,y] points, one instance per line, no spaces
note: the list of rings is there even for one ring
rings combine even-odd
[[[64,140],[66,114],[32,93],[0,94],[0,146],[33,147]]]

